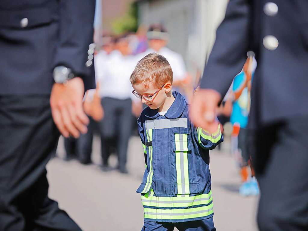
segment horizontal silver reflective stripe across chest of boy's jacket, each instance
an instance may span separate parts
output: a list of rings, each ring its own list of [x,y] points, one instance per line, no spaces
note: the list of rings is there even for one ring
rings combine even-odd
[[[161,120],[146,120],[145,128],[148,129],[163,129],[163,128],[187,128],[187,118],[177,119],[161,119]]]

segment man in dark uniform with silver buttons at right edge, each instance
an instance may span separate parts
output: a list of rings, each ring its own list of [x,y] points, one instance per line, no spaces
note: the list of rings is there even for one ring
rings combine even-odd
[[[214,130],[217,105],[255,53],[248,138],[260,230],[308,230],[307,9],[305,0],[230,0],[191,105],[192,121]]]

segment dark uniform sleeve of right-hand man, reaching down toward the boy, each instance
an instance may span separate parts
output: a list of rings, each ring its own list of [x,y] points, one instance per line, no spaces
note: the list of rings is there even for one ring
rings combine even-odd
[[[203,72],[201,88],[214,89],[222,98],[247,58],[250,10],[249,0],[230,0]]]

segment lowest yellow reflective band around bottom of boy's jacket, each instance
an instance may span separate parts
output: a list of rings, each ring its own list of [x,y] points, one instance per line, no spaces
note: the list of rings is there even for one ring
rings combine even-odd
[[[144,208],[144,218],[160,219],[160,220],[162,219],[176,220],[176,219],[205,217],[209,216],[212,213],[213,213],[213,203],[198,208],[185,208],[185,209]]]

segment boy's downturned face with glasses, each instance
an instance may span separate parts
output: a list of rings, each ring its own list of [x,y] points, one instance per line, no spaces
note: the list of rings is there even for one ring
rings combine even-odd
[[[140,94],[140,95],[149,95],[152,96],[159,88],[154,87],[151,83],[147,85],[148,88],[146,88],[146,85],[144,83],[140,84],[133,84],[132,87],[134,90]],[[167,93],[169,93],[172,89],[172,85],[170,82],[166,83],[164,87],[162,87],[154,96],[152,96],[152,101],[148,101],[142,97],[141,101],[148,105],[149,108],[155,110],[159,109],[164,105],[164,102],[167,99]]]

